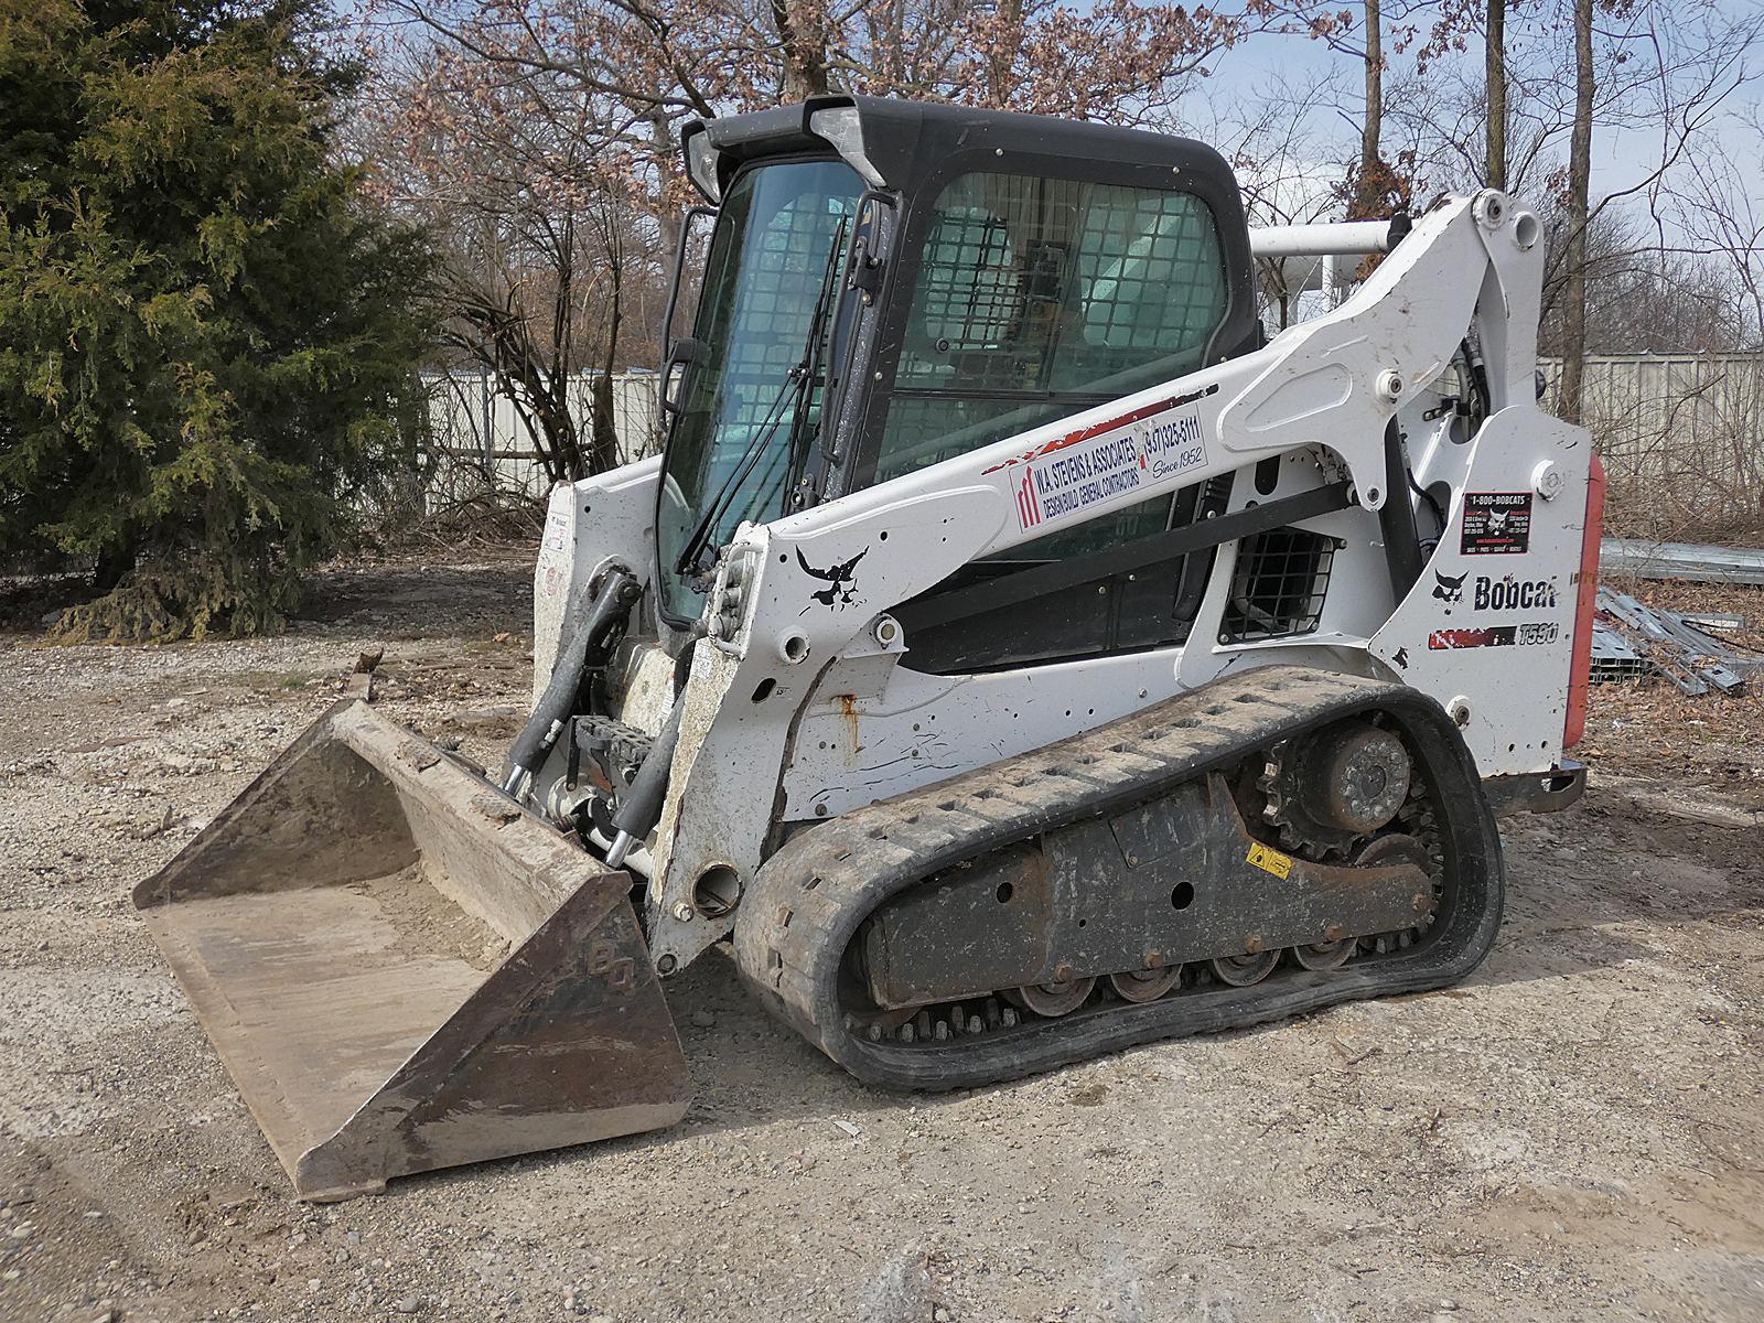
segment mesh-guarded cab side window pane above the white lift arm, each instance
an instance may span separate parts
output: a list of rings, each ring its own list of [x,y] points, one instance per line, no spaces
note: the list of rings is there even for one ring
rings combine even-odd
[[[1201,365],[1230,303],[1187,192],[970,173],[921,250],[877,482]]]

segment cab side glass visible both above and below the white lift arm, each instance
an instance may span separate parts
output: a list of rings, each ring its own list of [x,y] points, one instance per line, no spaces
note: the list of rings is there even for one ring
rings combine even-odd
[[[1192,372],[1231,310],[1214,213],[1189,192],[968,173],[921,233],[877,482]],[[1217,513],[1228,490],[1157,496],[965,566],[940,589],[1048,561],[1076,582],[917,630],[926,598],[901,603],[914,665],[986,670],[1185,639],[1212,552],[1095,580],[1083,561]]]

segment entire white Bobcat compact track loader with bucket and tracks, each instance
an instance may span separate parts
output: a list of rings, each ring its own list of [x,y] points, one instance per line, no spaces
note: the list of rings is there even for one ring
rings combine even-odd
[[[729,938],[891,1088],[1475,968],[1582,783],[1536,217],[1251,229],[1198,143],[864,97],[683,146],[665,453],[552,492],[506,766],[339,706],[136,894],[296,1191],[672,1124]]]

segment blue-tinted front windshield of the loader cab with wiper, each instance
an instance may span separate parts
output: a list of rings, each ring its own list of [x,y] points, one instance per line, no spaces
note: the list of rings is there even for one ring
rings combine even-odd
[[[797,411],[790,369],[804,358],[829,256],[861,192],[840,161],[760,166],[729,187],[693,326],[699,358],[662,462],[656,549],[662,607],[676,619],[699,616],[704,566],[743,520],[783,513],[792,425],[813,436],[822,386],[808,383]],[[713,505],[721,510],[693,538]],[[690,542],[707,550],[681,570]]]

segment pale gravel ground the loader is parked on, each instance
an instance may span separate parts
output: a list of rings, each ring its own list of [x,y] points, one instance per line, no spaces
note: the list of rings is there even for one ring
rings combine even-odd
[[[280,639],[166,649],[44,649],[42,591],[11,602],[0,1319],[1764,1318],[1748,796],[1612,774],[1510,822],[1508,921],[1459,988],[949,1097],[864,1092],[713,953],[669,986],[683,1125],[319,1208],[129,887],[363,646],[388,714],[494,760],[527,564],[339,570]]]

